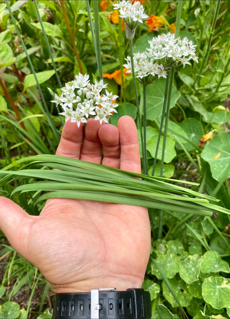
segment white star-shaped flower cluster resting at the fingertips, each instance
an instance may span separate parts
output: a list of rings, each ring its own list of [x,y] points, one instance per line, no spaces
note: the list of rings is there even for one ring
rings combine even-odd
[[[99,83],[95,80],[95,84],[90,84],[89,75],[81,73],[75,75],[75,78],[76,80],[65,84],[60,96],[55,93],[55,100],[51,101],[63,108],[64,112],[59,114],[65,116],[65,122],[71,119],[71,122],[76,122],[78,127],[90,117],[99,120],[100,124],[102,121],[108,123],[110,115],[113,112],[117,113],[115,108],[118,104],[115,100],[118,96],[113,95],[113,92],[108,93],[107,90],[106,94],[101,93],[101,90],[107,86],[103,80]]]

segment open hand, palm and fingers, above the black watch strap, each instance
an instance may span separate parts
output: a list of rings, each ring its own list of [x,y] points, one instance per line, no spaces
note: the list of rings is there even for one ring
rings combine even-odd
[[[129,116],[118,127],[89,119],[84,138],[82,125],[66,122],[56,154],[141,173],[137,129]],[[144,207],[55,198],[40,216],[30,216],[0,197],[0,227],[54,293],[142,286],[151,246]]]

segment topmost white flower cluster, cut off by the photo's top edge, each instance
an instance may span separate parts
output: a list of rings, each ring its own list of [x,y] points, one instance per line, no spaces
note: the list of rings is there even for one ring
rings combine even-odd
[[[124,23],[133,30],[136,28],[138,22],[143,23],[142,19],[148,18],[148,15],[144,13],[143,5],[139,1],[118,1],[113,4],[114,9],[119,10],[120,17],[123,18]]]

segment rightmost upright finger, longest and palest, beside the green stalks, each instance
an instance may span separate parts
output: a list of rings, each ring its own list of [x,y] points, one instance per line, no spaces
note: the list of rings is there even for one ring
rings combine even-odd
[[[119,130],[121,156],[120,168],[134,173],[141,173],[141,158],[137,127],[130,116],[122,116],[117,127]]]

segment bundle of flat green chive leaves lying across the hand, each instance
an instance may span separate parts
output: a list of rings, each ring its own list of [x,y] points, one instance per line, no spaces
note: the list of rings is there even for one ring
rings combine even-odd
[[[10,170],[23,163],[26,165],[18,170]],[[34,165],[39,168],[31,169]],[[213,211],[230,214],[226,208],[209,202],[218,201],[215,197],[178,185],[198,185],[197,183],[136,174],[57,155],[29,156],[11,163],[0,170],[0,184],[13,180],[12,175],[16,175],[17,180],[40,180],[32,183],[30,181],[29,184],[21,183],[11,194],[41,191],[43,194],[34,200],[34,205],[49,198],[74,198],[196,215],[211,216]]]

